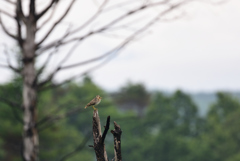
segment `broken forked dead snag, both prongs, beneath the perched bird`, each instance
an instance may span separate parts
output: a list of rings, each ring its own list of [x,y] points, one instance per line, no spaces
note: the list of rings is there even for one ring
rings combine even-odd
[[[105,149],[104,140],[109,130],[110,116],[107,117],[106,125],[104,126],[104,132],[101,132],[101,122],[98,115],[98,110],[93,111],[93,147],[97,161],[108,161],[107,152]],[[114,130],[111,130],[114,137],[114,154],[115,161],[122,161],[121,155],[121,134],[122,130],[120,126],[114,121]]]

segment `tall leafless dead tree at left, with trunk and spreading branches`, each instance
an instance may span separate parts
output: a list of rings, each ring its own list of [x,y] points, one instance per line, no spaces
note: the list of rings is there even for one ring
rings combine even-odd
[[[95,13],[82,22],[81,25],[75,26],[74,28],[70,26],[66,28],[65,32],[56,33],[56,28],[67,17],[73,6],[76,6],[77,3],[81,3],[82,1],[2,0],[0,2],[0,26],[8,37],[17,42],[21,53],[21,62],[19,64],[16,64],[16,62],[18,62],[17,57],[15,60],[10,60],[10,57],[12,58],[13,56],[9,57],[9,55],[6,54],[8,61],[0,64],[0,67],[7,68],[23,78],[22,104],[19,105],[23,110],[23,159],[25,161],[38,160],[38,122],[42,122],[37,114],[38,93],[40,91],[58,87],[99,68],[109,61],[112,55],[119,53],[121,49],[132,40],[136,40],[140,34],[144,33],[156,22],[166,19],[166,16],[169,16],[170,19],[176,19],[178,16],[172,15],[172,13],[191,1],[195,0],[159,0],[154,2],[136,0],[133,2],[120,3],[102,0]],[[57,12],[56,9],[60,5],[63,5],[63,3],[65,10]],[[82,6],[82,4],[79,6]],[[122,8],[125,9],[122,10]],[[151,9],[154,9],[154,12],[149,12]],[[98,22],[99,17],[101,18],[101,16],[106,15],[106,13],[111,16],[115,15],[116,11],[119,14],[114,18],[105,18],[101,23]],[[146,13],[147,17],[143,19],[139,13]],[[6,19],[14,22],[15,26],[12,24],[9,26]],[[79,20],[76,19],[75,21],[78,22]],[[139,25],[136,25],[138,23]],[[93,24],[98,25],[95,25],[93,28]],[[48,26],[48,30],[44,31],[43,28],[47,28],[46,26]],[[106,51],[100,56],[90,58],[89,60],[80,60],[75,63],[68,62],[73,53],[76,53],[74,50],[80,45],[80,42],[85,42],[89,38],[100,34],[116,37],[115,35],[118,35],[120,30],[123,30],[126,35],[120,34],[120,41],[118,41],[117,45],[113,48],[109,49],[109,51]],[[58,37],[56,37],[56,34]],[[69,52],[60,53],[60,49],[67,45],[72,45]],[[55,68],[51,67],[52,71],[49,72],[47,69],[49,65],[53,64],[51,60],[58,54],[65,55],[61,61],[55,64]],[[44,55],[47,55],[45,61],[42,61],[42,64],[37,67],[36,62],[39,62],[39,59],[43,60]],[[15,63],[12,63],[13,61]],[[102,62],[95,67],[87,69],[83,73],[73,75],[62,82],[56,81],[56,75],[62,71],[82,67],[83,65],[98,61]],[[66,65],[67,62],[68,65]],[[48,120],[43,119],[45,122]]]

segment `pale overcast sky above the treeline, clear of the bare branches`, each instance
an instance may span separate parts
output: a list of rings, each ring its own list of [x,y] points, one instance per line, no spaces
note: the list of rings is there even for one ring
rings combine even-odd
[[[239,0],[214,6],[200,3],[186,6],[184,17],[160,21],[90,76],[108,91],[129,81],[143,83],[151,90],[240,91],[239,8]],[[85,55],[91,57],[109,49],[115,41],[99,40],[81,44],[76,53],[88,53]],[[87,58],[79,54],[69,61],[71,64]],[[4,75],[0,82],[9,80],[8,71],[0,72]],[[79,69],[63,72],[57,80],[78,72]]]

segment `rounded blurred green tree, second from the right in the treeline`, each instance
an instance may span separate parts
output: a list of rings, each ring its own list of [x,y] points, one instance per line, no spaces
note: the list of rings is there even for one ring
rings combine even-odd
[[[155,93],[144,126],[151,137],[144,152],[145,160],[189,160],[198,120],[197,106],[187,94]]]

